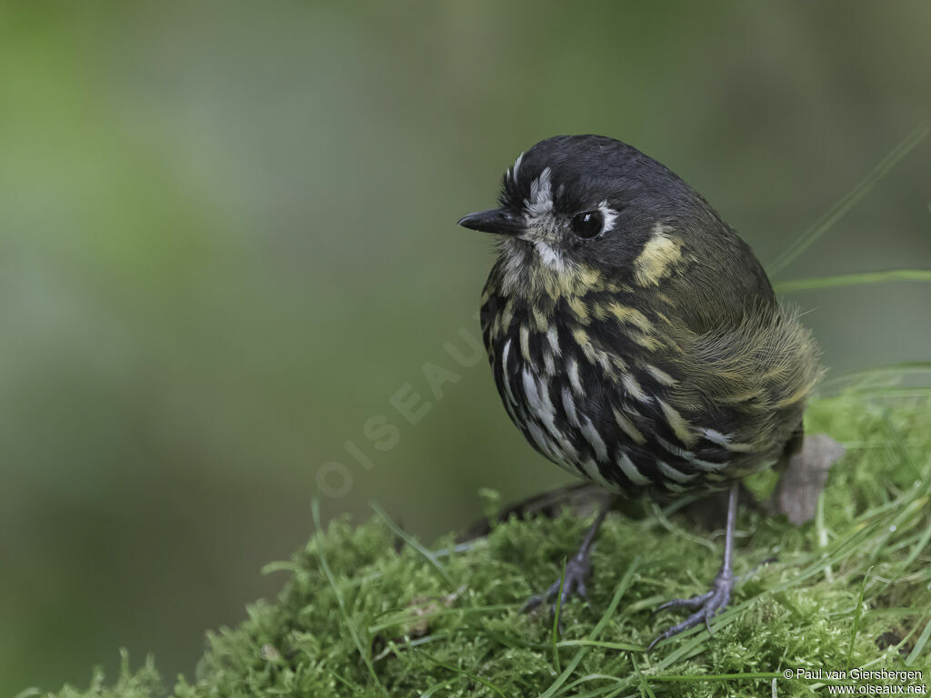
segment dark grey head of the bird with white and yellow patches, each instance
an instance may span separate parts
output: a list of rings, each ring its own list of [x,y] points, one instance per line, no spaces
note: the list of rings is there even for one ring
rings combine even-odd
[[[499,204],[459,224],[498,235],[511,281],[525,287],[537,275],[658,281],[690,236],[726,228],[668,168],[603,136],[538,142],[507,169]]]

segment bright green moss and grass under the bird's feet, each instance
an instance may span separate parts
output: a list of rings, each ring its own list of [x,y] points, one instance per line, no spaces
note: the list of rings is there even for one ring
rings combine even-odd
[[[786,669],[848,666],[925,670],[931,656],[931,413],[924,397],[822,400],[808,414],[848,452],[830,472],[823,516],[801,529],[743,511],[737,571],[767,557],[718,616],[641,651],[679,616],[663,599],[703,591],[720,537],[687,533],[670,515],[608,517],[594,554],[591,607],[546,615],[519,609],[548,584],[587,521],[510,520],[471,548],[437,555],[398,544],[385,517],[337,520],[290,562],[276,603],[259,602],[235,629],[208,634],[196,677],[173,694],[203,696],[769,695]],[[765,486],[763,478],[756,483]],[[865,584],[864,584],[865,580]],[[862,597],[861,597],[862,589]],[[858,620],[857,620],[858,618]],[[600,644],[599,644],[600,643]],[[629,648],[640,648],[631,651]],[[762,678],[706,678],[763,674]],[[777,679],[780,696],[822,694],[815,681]],[[77,696],[161,696],[155,669],[96,676]]]

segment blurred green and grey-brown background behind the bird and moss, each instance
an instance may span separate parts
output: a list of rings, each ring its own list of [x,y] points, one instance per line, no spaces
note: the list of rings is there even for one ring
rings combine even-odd
[[[431,540],[565,482],[444,350],[492,264],[458,217],[598,132],[772,261],[931,114],[929,35],[918,1],[4,2],[0,694],[121,646],[191,672],[314,496]],[[931,267],[929,155],[781,278]],[[928,357],[927,286],[793,300],[835,373]]]

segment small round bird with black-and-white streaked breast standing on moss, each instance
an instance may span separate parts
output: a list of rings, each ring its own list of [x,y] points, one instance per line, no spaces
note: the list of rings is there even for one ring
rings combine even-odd
[[[693,612],[649,649],[696,624],[710,632],[735,586],[738,484],[800,450],[822,374],[800,313],[702,195],[605,136],[536,143],[506,169],[498,206],[458,224],[496,240],[482,339],[535,450],[609,496],[727,491],[721,569],[706,593],[657,609]],[[526,609],[586,597],[607,510]]]

